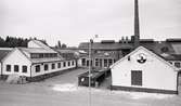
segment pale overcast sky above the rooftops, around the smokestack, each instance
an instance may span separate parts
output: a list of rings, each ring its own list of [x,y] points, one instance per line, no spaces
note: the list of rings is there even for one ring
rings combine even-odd
[[[133,35],[134,0],[0,0],[0,35],[78,45]],[[181,38],[181,0],[139,0],[141,38]]]

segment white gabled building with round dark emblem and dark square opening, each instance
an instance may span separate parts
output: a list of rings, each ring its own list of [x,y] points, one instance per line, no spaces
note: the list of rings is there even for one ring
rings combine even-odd
[[[152,51],[139,47],[111,66],[112,90],[178,93],[178,71]]]

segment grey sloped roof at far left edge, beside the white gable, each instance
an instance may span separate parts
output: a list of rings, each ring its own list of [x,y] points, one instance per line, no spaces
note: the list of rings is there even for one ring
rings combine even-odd
[[[0,62],[12,51],[10,48],[0,48]]]

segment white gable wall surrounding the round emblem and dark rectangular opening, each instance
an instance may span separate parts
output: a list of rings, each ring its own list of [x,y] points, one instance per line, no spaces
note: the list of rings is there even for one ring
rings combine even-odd
[[[147,61],[144,64],[137,62],[139,53],[144,53]],[[142,87],[150,89],[177,90],[177,71],[144,50],[140,50],[130,56],[130,61],[124,59],[112,69],[112,84],[122,87],[131,85],[131,70],[142,70]]]

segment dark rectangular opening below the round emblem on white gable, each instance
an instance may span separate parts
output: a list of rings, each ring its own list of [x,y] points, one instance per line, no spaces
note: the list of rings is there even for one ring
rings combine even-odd
[[[131,85],[142,85],[141,70],[131,70]]]

